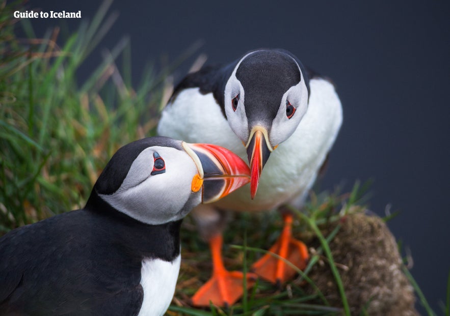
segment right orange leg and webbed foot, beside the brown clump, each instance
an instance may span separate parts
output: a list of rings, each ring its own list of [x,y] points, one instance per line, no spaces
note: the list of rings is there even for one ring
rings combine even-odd
[[[283,214],[283,220],[283,231],[269,251],[285,258],[299,269],[304,269],[309,258],[308,250],[304,243],[292,237],[293,216],[291,214]],[[280,284],[291,279],[296,273],[283,260],[270,253],[265,254],[254,263],[252,269],[260,277]]]

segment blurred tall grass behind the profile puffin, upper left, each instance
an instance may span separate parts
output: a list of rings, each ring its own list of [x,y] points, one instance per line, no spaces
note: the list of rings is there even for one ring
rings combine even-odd
[[[58,28],[37,39],[27,19],[11,19],[21,4],[2,3],[0,233],[82,207],[111,155],[155,133],[165,75],[147,68],[133,89],[126,38],[104,50],[103,62],[77,84],[76,71],[115,19],[107,17],[110,4],[59,47]],[[15,36],[18,27],[25,39]]]

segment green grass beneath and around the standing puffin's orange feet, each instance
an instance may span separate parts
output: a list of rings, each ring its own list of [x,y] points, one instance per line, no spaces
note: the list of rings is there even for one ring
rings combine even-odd
[[[189,305],[189,298],[209,278],[210,256],[207,245],[196,234],[192,219],[186,218],[181,234],[183,260],[175,292],[176,299],[169,311],[173,312],[172,315],[350,315],[348,304],[344,303],[343,308],[329,305],[326,297],[308,277],[308,272],[321,261],[324,252],[333,265],[334,261],[330,257],[328,244],[338,233],[339,227],[337,226],[327,236],[324,236],[317,225],[326,225],[348,213],[361,211],[362,208],[356,206],[356,203],[361,201],[359,193],[362,191],[359,186],[355,186],[352,192],[355,200],[348,209],[345,202],[349,201],[349,194],[339,195],[337,193],[324,193],[319,196],[313,194],[306,207],[306,213],[292,209],[299,220],[294,227],[294,235],[303,240],[319,237],[321,241],[321,245],[311,256],[308,266],[301,271],[286,262],[298,272],[299,276],[296,279],[288,282],[282,289],[277,289],[275,285],[258,279],[253,289],[246,293],[246,299],[229,309],[211,306],[210,309],[205,310]],[[345,207],[342,208],[342,205]],[[342,214],[336,213],[336,210],[341,209]],[[252,225],[247,224],[250,221]],[[237,214],[232,225],[225,231],[224,256],[227,260],[227,268],[248,271],[250,264],[256,261],[258,254],[268,252],[264,249],[267,249],[267,244],[272,244],[278,238],[280,227],[282,227],[282,220],[276,212],[256,215]],[[276,254],[273,255],[277,257]],[[339,284],[338,273],[335,274],[335,279]],[[313,294],[305,292],[305,284],[314,289]],[[342,286],[341,282],[340,286]],[[343,289],[341,289],[341,295],[342,301],[345,302]]]

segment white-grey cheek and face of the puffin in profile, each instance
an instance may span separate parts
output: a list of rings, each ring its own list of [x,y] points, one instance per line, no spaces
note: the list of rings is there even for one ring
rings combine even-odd
[[[197,173],[197,166],[186,152],[149,147],[131,164],[120,188],[100,197],[141,222],[163,224],[183,218],[201,203],[201,190],[191,190]]]

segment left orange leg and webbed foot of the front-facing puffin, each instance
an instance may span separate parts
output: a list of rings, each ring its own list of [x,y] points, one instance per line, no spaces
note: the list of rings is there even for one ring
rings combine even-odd
[[[230,306],[244,294],[244,274],[239,271],[227,271],[222,260],[222,235],[216,235],[209,240],[213,256],[213,276],[201,286],[192,297],[196,306],[209,306],[210,302],[217,306]],[[247,288],[255,283],[256,275],[247,273]]]

